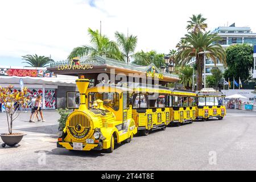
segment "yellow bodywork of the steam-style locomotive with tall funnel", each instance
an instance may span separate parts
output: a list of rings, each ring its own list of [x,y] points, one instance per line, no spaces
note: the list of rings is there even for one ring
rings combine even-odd
[[[74,143],[82,143],[82,150],[102,150],[110,148],[111,138],[114,137],[116,143],[126,139],[132,139],[137,134],[132,109],[123,108],[122,94],[124,90],[102,87],[101,92],[117,92],[119,94],[119,109],[114,110],[103,105],[101,100],[97,100],[97,107],[88,109],[88,93],[99,92],[98,88],[88,88],[89,80],[79,79],[76,81],[80,92],[79,109],[73,111],[67,118],[64,129],[65,137],[59,141],[59,146],[68,150],[73,150]],[[94,133],[99,130],[100,138],[94,138]],[[87,143],[94,141],[94,143]]]

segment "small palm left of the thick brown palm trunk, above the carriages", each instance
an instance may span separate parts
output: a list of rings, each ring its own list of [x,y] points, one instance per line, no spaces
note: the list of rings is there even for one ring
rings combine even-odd
[[[193,76],[193,68],[192,67],[182,67],[179,68],[179,78],[180,83],[186,88],[191,89],[192,88],[192,76]]]

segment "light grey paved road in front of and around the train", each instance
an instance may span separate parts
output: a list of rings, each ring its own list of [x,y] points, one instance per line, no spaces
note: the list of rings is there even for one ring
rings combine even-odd
[[[222,121],[168,127],[135,137],[112,154],[56,148],[59,115],[45,114],[46,123],[28,123],[28,113],[20,115],[15,131],[27,135],[18,148],[0,147],[1,170],[256,170],[256,112],[228,110]],[[1,133],[5,125],[0,113]]]

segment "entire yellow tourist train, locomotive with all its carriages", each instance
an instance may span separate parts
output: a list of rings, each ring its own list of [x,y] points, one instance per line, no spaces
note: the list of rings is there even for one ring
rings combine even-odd
[[[67,107],[74,111],[68,115],[63,131],[58,133],[57,147],[68,150],[113,152],[116,144],[129,143],[137,133],[148,135],[152,130],[166,130],[168,125],[179,126],[205,118],[207,109],[207,118],[222,119],[225,115],[225,107],[215,106],[214,102],[215,98],[223,98],[223,94],[207,95],[131,82],[102,83],[88,88],[89,80],[84,78],[76,80],[76,84],[79,93],[67,93]],[[211,97],[213,106],[208,106],[206,98]]]

